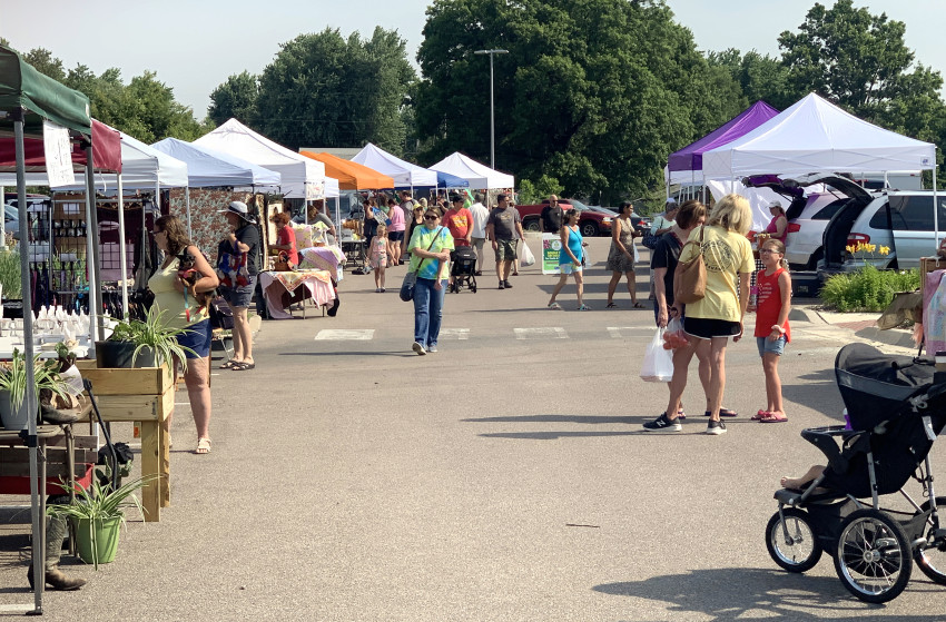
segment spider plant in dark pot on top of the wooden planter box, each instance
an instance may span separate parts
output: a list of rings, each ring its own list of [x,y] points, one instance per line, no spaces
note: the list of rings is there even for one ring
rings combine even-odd
[[[171,365],[175,358],[187,366],[186,353],[193,349],[177,343],[187,328],[173,328],[164,310],[148,310],[144,322],[120,320],[105,342],[96,342],[97,367],[158,367]]]

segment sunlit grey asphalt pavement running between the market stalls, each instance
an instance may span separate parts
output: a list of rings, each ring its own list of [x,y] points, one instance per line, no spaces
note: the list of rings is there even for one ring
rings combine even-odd
[[[447,295],[440,352],[411,351],[413,310],[345,277],[334,318],[265,322],[256,369],[215,369],[213,453],[184,392],[173,505],[129,520],[117,560],[46,594],[51,620],[703,621],[935,619],[946,589],[918,571],[887,605],[855,600],[831,560],[804,575],[769,559],[781,475],[824,462],[805,427],[841,421],[834,381],[853,329],[799,322],[781,362],[788,423],[765,406],[755,342],[727,352],[708,436],[696,379],[679,433],[644,433],[668,391],[639,373],[653,316],[604,309],[609,240],[592,240],[587,303],[538,267],[497,290]],[[536,245],[532,244],[533,251]],[[639,269],[647,302],[647,269]],[[893,346],[885,346],[894,351]],[[897,351],[900,352],[900,351]],[[219,363],[219,362],[217,362]],[[118,428],[119,437],[130,428]],[[934,448],[934,462],[937,450]],[[895,506],[900,504],[895,503]],[[0,514],[0,613],[31,602],[28,520]]]

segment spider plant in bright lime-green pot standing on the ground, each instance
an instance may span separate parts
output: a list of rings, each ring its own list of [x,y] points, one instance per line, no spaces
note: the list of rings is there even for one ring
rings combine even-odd
[[[107,564],[115,560],[118,535],[125,524],[125,510],[136,507],[141,519],[145,511],[135,494],[154,477],[138,477],[112,488],[92,477],[88,488],[77,488],[72,503],[53,503],[46,507],[50,516],[65,516],[76,526],[76,550],[87,564]]]

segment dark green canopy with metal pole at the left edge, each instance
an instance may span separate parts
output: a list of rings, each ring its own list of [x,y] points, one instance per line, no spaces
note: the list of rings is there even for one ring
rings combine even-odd
[[[52,121],[69,130],[72,138],[78,138],[86,144],[87,168],[91,179],[92,152],[91,136],[92,120],[89,116],[89,99],[72,89],[66,88],[52,78],[43,76],[29,63],[23,61],[19,53],[8,47],[0,46],[0,135],[13,136],[16,144],[16,165],[12,167],[17,174],[17,195],[20,211],[20,239],[29,239],[29,220],[27,217],[27,185],[26,185],[26,150],[23,140],[27,137],[42,138],[43,121]],[[6,168],[6,167],[4,167]],[[6,168],[6,170],[10,170]],[[91,188],[88,196],[92,196]],[[89,203],[87,201],[87,211]],[[88,214],[87,214],[88,216]],[[90,221],[92,221],[90,219]],[[30,299],[29,265],[26,253],[20,254],[20,268],[23,288],[23,349],[26,359],[33,359],[32,340],[32,300]],[[35,385],[33,367],[27,365],[27,386]],[[28,412],[37,412],[38,404],[36,393],[27,391],[26,403]],[[42,557],[45,554],[42,536],[45,530],[45,516],[41,514],[39,498],[39,463],[37,451],[37,423],[33,417],[29,418],[26,431],[27,445],[30,454],[30,500],[32,506],[32,565],[35,583],[35,613],[42,613],[42,591],[45,569]]]

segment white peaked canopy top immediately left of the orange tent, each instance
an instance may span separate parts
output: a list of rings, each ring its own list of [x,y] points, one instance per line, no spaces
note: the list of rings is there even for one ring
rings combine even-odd
[[[283,176],[283,196],[316,200],[325,196],[325,165],[262,136],[236,119],[194,141],[198,147],[230,154]]]

